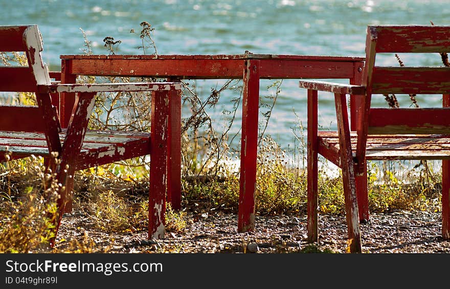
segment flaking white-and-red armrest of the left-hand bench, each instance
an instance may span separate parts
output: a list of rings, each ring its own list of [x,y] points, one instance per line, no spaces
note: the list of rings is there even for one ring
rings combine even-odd
[[[38,85],[41,93],[99,93],[181,90],[179,82],[82,83]]]

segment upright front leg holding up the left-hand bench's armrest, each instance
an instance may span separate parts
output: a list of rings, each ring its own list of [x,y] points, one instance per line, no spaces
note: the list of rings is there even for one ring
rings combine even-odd
[[[164,238],[167,193],[167,126],[169,93],[155,91],[151,100],[151,162],[148,203],[148,238]]]

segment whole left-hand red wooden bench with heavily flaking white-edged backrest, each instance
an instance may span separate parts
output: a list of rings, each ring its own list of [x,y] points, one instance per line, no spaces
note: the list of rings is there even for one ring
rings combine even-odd
[[[0,26],[0,52],[25,52],[28,66],[0,67],[0,91],[33,92],[37,106],[0,106],[0,161],[40,155],[48,158],[60,185],[58,211],[52,215],[55,235],[73,189],[75,171],[151,155],[149,187],[149,238],[164,236],[167,191],[167,122],[170,97],[181,96],[178,82],[75,84],[50,80],[41,58],[42,42],[36,25]],[[123,132],[87,129],[96,93],[151,92],[151,131]],[[172,92],[179,92],[173,94]],[[74,107],[61,129],[51,94],[74,94]],[[169,97],[170,96],[170,97]],[[150,137],[151,136],[151,137]],[[57,158],[52,158],[55,155]],[[8,159],[10,159],[8,157]],[[54,238],[51,240],[54,245]]]

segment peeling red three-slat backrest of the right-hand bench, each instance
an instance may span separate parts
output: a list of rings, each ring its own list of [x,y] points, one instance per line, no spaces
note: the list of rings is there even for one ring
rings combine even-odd
[[[450,26],[368,26],[363,78],[367,96],[359,109],[359,135],[446,133],[450,126],[446,109],[380,109],[371,108],[370,102],[373,94],[450,93],[450,67],[375,66],[377,53],[435,53],[439,57],[438,52],[449,50]]]

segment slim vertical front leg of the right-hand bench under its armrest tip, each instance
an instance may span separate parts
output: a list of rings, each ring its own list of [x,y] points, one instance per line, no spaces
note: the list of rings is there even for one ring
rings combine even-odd
[[[308,242],[317,242],[318,232],[318,142],[317,142],[317,91],[308,90]]]

